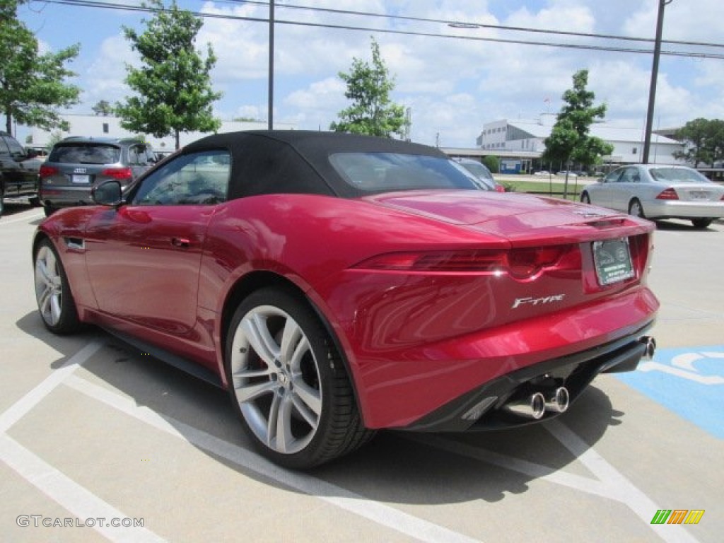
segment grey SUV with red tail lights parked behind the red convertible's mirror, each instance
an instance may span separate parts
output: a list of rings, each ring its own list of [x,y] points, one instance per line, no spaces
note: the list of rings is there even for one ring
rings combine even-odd
[[[155,162],[151,146],[138,138],[65,138],[40,169],[45,213],[92,203],[90,188],[109,179],[125,188]]]

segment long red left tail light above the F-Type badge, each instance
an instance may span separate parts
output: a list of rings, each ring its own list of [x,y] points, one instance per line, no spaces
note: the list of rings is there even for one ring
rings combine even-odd
[[[565,259],[565,269],[578,266],[580,256],[573,245],[521,248],[510,251],[421,251],[387,253],[353,266],[355,269],[408,272],[458,272],[510,274],[515,279],[530,279],[544,269],[557,268]],[[575,253],[575,254],[574,254]],[[571,255],[572,258],[564,258]],[[563,264],[561,264],[563,265]]]

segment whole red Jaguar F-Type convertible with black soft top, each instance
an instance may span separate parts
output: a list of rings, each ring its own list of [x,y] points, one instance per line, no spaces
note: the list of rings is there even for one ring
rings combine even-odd
[[[654,342],[652,223],[481,190],[434,148],[212,135],[33,240],[44,324],[95,324],[229,390],[261,452],[309,468],[375,429],[557,416]]]

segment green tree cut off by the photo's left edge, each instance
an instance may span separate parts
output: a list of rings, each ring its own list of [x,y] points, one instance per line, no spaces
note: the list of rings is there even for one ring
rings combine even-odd
[[[57,109],[78,103],[80,88],[65,80],[75,76],[66,63],[75,59],[80,46],[40,54],[35,35],[17,20],[21,3],[0,3],[0,112],[6,130],[12,132],[14,122],[44,130],[67,129]]]

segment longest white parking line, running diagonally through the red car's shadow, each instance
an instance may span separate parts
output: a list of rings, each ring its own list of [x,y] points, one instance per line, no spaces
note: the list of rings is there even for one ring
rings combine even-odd
[[[249,469],[287,487],[318,497],[320,500],[340,509],[355,513],[381,526],[387,526],[387,528],[414,537],[419,541],[430,543],[473,543],[479,541],[413,515],[408,515],[408,513],[403,513],[403,511],[388,505],[371,501],[360,494],[355,494],[305,473],[279,468],[279,466],[243,447],[233,445],[174,418],[161,416],[159,413],[151,411],[151,409],[138,406],[130,399],[110,392],[85,379],[80,379],[75,375],[70,376],[64,384],[156,429],[185,439],[192,445],[225,458],[241,468]]]

